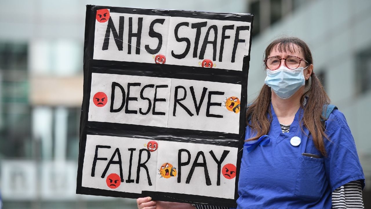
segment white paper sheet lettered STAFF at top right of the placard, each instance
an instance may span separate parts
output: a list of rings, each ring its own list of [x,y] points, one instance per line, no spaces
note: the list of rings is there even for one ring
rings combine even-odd
[[[177,35],[190,40],[190,51],[185,58],[179,59],[175,58],[176,56],[174,57],[172,53],[183,54],[187,48],[185,42],[177,41],[174,33],[180,23],[189,23],[189,26],[181,26]],[[250,25],[249,22],[171,17],[167,64],[194,67],[213,66],[213,68],[242,71],[243,57],[249,55],[249,41],[247,40],[250,40],[248,29]],[[197,30],[199,30],[198,33]],[[203,60],[210,60],[211,63],[206,61],[207,65],[199,64]]]

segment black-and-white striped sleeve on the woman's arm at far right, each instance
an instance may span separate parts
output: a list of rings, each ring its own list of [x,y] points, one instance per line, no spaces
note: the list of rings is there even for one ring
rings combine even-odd
[[[333,209],[364,208],[362,186],[359,180],[351,181],[332,192]]]

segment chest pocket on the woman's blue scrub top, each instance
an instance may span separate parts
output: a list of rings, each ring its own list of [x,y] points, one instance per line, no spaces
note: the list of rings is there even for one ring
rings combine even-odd
[[[328,186],[324,158],[301,155],[298,161],[299,170],[296,177],[295,197],[319,199]]]

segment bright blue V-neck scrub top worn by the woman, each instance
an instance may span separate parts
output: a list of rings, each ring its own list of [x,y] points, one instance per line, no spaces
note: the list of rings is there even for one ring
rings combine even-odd
[[[256,208],[329,208],[331,194],[338,187],[364,174],[359,163],[354,139],[344,115],[335,109],[325,122],[324,139],[327,157],[315,148],[312,135],[299,121],[304,110],[299,108],[288,133],[282,133],[277,116],[270,105],[270,143],[252,152],[243,149],[238,185],[238,209]],[[268,115],[269,119],[269,115]],[[256,133],[255,133],[256,134]],[[249,126],[246,138],[254,136]],[[290,144],[293,136],[301,138],[298,146]],[[252,142],[247,142],[252,143]],[[303,156],[316,154],[321,158]]]

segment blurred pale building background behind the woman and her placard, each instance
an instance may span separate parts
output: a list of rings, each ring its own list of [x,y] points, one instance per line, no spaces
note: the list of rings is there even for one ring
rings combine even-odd
[[[371,178],[369,0],[3,0],[3,208],[136,208],[131,199],[75,194],[86,4],[254,14],[249,101],[264,84],[267,44],[279,36],[302,38],[314,55],[314,72],[347,117],[366,179]],[[371,208],[370,183],[363,195],[365,208]]]

